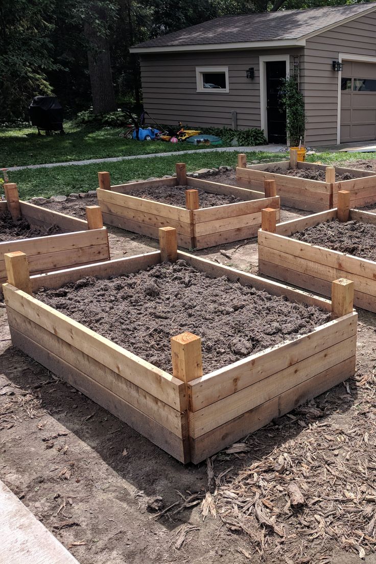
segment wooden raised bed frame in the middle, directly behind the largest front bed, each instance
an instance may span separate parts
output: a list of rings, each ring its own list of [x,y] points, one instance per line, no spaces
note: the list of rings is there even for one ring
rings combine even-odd
[[[279,198],[227,184],[187,177],[184,164],[176,165],[176,178],[130,182],[110,186],[109,173],[99,173],[98,201],[106,224],[158,239],[158,228],[174,227],[178,244],[185,249],[230,243],[255,237],[261,225],[262,208],[278,208]],[[130,196],[130,192],[158,186],[189,186],[185,208]],[[197,188],[218,195],[231,195],[244,201],[200,208]],[[278,211],[279,213],[279,211]]]

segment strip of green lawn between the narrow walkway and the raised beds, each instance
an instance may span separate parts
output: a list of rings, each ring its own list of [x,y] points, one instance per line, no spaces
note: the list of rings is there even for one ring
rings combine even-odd
[[[366,160],[374,158],[373,153],[320,153],[309,157],[310,161],[320,161],[322,164],[342,165],[345,161],[359,158]],[[283,158],[281,153],[250,153],[248,160],[263,158]],[[220,165],[235,166],[237,153],[196,153],[178,156],[134,158],[128,161],[107,162],[103,165],[56,166],[54,168],[26,169],[9,173],[11,182],[16,182],[20,196],[29,199],[33,196],[52,196],[56,194],[68,195],[70,192],[86,192],[98,187],[97,173],[107,170],[111,174],[113,184],[121,184],[134,179],[162,177],[175,171],[175,163],[182,160],[187,163],[187,170],[194,171],[203,167],[212,168]]]

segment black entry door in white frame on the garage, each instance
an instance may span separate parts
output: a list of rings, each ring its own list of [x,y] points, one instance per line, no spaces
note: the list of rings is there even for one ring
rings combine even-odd
[[[279,90],[286,78],[286,61],[267,61],[266,98],[269,143],[286,143],[286,112],[280,111]]]

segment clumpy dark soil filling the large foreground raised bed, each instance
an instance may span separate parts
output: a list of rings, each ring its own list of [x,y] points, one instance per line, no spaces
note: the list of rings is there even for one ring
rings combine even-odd
[[[204,372],[311,332],[330,314],[315,306],[211,279],[185,261],[136,274],[85,277],[37,297],[125,349],[171,372],[170,338],[202,337]]]

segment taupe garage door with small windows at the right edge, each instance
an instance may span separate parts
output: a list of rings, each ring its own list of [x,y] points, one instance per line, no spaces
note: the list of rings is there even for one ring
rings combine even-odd
[[[376,64],[343,61],[340,141],[376,139]]]

